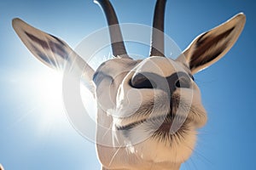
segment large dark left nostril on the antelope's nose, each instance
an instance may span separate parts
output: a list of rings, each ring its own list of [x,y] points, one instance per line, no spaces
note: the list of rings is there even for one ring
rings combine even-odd
[[[131,78],[130,85],[132,88],[153,88],[154,82],[142,73],[137,73]]]

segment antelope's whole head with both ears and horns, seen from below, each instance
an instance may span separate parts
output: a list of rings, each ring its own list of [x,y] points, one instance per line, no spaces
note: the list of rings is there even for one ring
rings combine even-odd
[[[237,14],[200,36],[173,60],[164,52],[166,0],[154,9],[149,57],[127,54],[119,21],[108,0],[97,0],[108,20],[113,59],[96,71],[66,42],[13,20],[26,47],[45,65],[72,65],[97,101],[97,152],[105,169],[177,169],[195,146],[196,129],[207,122],[200,89],[193,75],[221,59],[234,45],[245,24]],[[189,29],[189,28],[188,28]]]

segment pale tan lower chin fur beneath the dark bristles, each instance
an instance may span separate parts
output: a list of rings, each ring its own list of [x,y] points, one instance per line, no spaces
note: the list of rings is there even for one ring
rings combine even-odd
[[[188,128],[182,133],[172,134],[172,137],[164,133],[156,134],[143,143],[135,145],[135,150],[146,161],[182,163],[189,159],[194,150],[195,142],[196,131]]]

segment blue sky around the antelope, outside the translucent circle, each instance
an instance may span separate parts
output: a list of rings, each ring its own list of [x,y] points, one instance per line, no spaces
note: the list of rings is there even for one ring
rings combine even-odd
[[[112,0],[121,23],[151,26],[154,0]],[[252,169],[256,158],[256,3],[243,0],[168,1],[166,34],[186,48],[203,31],[244,12],[247,24],[228,54],[195,76],[209,121],[182,169]],[[61,79],[20,42],[11,20],[75,46],[106,26],[92,0],[0,2],[0,163],[6,169],[99,169],[94,144],[67,121]],[[129,48],[132,53],[133,48]],[[144,54],[146,55],[146,54]]]

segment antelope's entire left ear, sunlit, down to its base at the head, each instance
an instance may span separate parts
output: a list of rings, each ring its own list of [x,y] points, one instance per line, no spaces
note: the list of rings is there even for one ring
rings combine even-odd
[[[81,77],[82,82],[94,94],[92,77],[95,71],[66,42],[29,26],[20,19],[13,20],[13,27],[21,41],[26,45],[26,48],[44,65],[61,71],[67,65],[72,65],[75,69],[84,70],[84,74]]]

